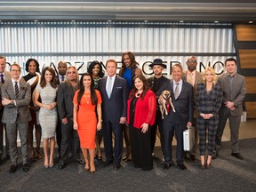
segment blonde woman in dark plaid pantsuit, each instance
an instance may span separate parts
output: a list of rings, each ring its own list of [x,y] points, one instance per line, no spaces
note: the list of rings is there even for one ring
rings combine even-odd
[[[222,88],[217,84],[217,75],[212,67],[204,70],[203,83],[197,85],[197,129],[199,132],[199,148],[201,169],[210,167],[214,140],[219,122],[219,110],[222,100]],[[206,132],[208,130],[208,156],[206,151]]]

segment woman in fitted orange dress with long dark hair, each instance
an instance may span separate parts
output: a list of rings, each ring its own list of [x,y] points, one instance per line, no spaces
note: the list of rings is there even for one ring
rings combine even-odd
[[[74,103],[74,129],[77,130],[80,147],[85,161],[85,171],[95,172],[95,135],[96,128],[101,129],[101,96],[98,90],[94,89],[92,76],[84,73],[80,79],[81,89],[76,91]],[[95,108],[97,107],[98,123]],[[88,156],[89,152],[89,156]],[[89,164],[90,162],[90,164]]]

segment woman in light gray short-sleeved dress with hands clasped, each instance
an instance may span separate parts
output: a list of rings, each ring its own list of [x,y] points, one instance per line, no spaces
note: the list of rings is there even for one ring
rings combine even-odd
[[[39,123],[42,126],[44,146],[44,167],[53,166],[53,151],[55,148],[55,131],[57,125],[57,81],[54,70],[50,67],[44,68],[40,84],[35,89],[34,103],[40,107]],[[41,101],[39,101],[41,97]],[[50,143],[50,155],[49,155]]]

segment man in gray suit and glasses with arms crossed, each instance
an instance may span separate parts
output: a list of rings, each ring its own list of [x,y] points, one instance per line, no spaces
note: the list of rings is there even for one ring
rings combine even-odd
[[[24,172],[28,172],[28,122],[31,120],[28,105],[31,98],[30,85],[20,80],[20,66],[12,64],[12,79],[2,85],[2,104],[4,114],[2,122],[6,124],[7,137],[10,144],[12,166],[15,172],[18,164],[17,131],[20,133],[21,153]]]

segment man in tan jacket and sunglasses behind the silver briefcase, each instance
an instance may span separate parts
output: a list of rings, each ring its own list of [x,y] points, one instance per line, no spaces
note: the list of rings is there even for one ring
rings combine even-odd
[[[197,109],[196,109],[196,88],[197,84],[201,83],[203,81],[203,76],[201,73],[196,71],[197,66],[197,60],[195,56],[189,56],[188,60],[186,62],[188,70],[183,71],[182,79],[184,81],[187,81],[189,84],[193,86],[193,96],[194,96],[194,118],[192,125],[195,127],[195,138],[196,138],[196,144],[194,148],[191,149],[191,151],[185,153],[185,157],[188,157],[191,160],[196,160],[196,146],[198,141],[198,133],[196,131],[196,119],[197,119]],[[188,156],[187,156],[188,155]]]

